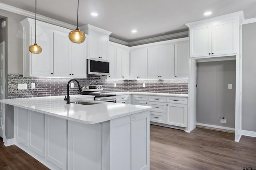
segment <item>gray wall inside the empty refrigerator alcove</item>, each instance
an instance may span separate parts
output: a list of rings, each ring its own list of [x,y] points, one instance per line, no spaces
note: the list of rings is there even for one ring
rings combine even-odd
[[[236,61],[197,64],[197,123],[235,127],[235,83]],[[220,123],[220,117],[226,117],[227,123]]]

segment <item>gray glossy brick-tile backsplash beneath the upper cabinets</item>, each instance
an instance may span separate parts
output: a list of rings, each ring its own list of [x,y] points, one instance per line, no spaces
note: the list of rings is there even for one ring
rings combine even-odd
[[[64,96],[70,78],[23,77],[22,74],[8,74],[8,98],[30,98],[43,96]],[[103,85],[103,92],[157,92],[188,94],[188,80],[102,80],[100,76],[78,79],[81,85]],[[31,89],[31,83],[36,88]],[[26,83],[28,89],[18,90],[19,83]],[[116,83],[116,87],[114,87]],[[145,87],[142,87],[145,83]],[[70,95],[78,94],[78,85],[70,88]]]

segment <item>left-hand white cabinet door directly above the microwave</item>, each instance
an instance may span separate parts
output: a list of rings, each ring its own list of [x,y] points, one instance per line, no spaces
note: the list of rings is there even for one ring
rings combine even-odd
[[[98,46],[99,46],[99,34],[95,31],[89,33],[89,56],[88,58],[99,59]]]

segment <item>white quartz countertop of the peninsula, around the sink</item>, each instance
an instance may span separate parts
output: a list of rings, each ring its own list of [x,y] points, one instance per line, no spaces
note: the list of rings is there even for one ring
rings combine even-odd
[[[91,97],[94,96],[71,95],[70,102],[84,101],[97,104],[66,104],[64,96],[4,99],[0,100],[0,102],[85,124],[100,123],[126,115],[148,111],[151,108],[149,106],[86,100],[86,98]]]

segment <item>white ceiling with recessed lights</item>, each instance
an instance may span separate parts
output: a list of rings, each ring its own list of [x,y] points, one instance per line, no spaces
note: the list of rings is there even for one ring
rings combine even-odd
[[[0,0],[34,12],[35,0]],[[76,25],[76,0],[38,0],[38,14]],[[244,11],[256,17],[256,0],[80,0],[79,25],[111,31],[111,37],[131,42],[186,31],[185,23]],[[211,16],[204,12],[212,11]],[[90,15],[97,12],[98,17]],[[137,33],[131,33],[137,29]]]

